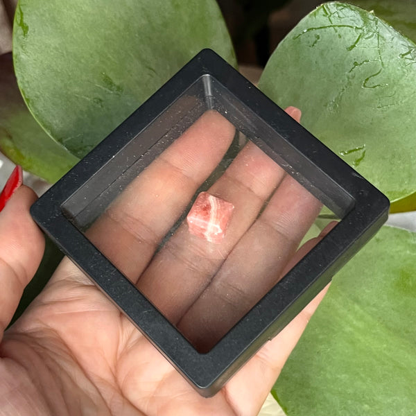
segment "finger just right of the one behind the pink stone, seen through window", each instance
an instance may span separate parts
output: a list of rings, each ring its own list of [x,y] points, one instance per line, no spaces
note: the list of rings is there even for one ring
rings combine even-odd
[[[178,324],[202,352],[209,351],[281,277],[322,204],[286,176],[259,219]]]

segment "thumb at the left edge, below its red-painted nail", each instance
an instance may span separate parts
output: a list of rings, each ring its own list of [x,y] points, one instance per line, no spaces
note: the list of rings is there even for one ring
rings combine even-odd
[[[44,236],[29,214],[36,195],[20,187],[0,213],[0,339],[44,252]]]

